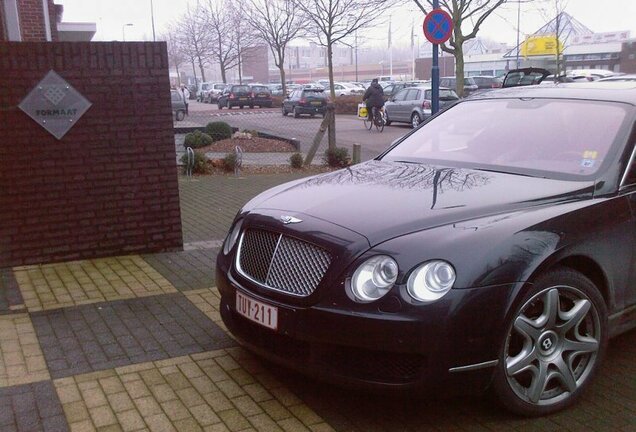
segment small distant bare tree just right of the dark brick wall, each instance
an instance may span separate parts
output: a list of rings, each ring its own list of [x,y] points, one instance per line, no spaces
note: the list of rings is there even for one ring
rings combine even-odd
[[[188,7],[186,13],[177,22],[175,31],[179,35],[179,45],[183,53],[192,62],[195,76],[194,64],[196,63],[201,71],[201,79],[205,81],[204,68],[211,54],[211,44],[209,31],[202,18],[203,9],[198,3],[194,11]]]

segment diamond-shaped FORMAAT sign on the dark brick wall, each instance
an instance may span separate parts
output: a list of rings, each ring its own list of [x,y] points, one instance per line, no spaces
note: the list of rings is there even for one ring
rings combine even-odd
[[[18,107],[55,138],[62,139],[91,105],[64,78],[50,71]]]

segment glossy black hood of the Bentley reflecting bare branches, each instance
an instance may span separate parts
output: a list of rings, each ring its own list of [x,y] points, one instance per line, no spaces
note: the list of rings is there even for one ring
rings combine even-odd
[[[594,183],[370,161],[296,181],[255,198],[248,211],[310,215],[365,236],[371,245],[436,226],[551,202],[591,198]]]

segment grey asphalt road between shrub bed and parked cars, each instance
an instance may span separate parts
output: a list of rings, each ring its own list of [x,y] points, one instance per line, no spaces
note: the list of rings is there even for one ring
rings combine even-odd
[[[190,101],[190,114],[175,126],[203,126],[210,121],[223,120],[240,129],[254,129],[284,138],[295,138],[300,141],[301,151],[306,153],[314,140],[322,122],[320,116],[311,118],[302,116],[284,117],[279,108],[233,108],[217,109],[216,104],[204,104]],[[409,125],[391,125],[382,133],[375,129],[368,131],[354,114],[336,115],[336,143],[352,151],[353,144],[361,145],[362,160],[369,160],[385,150],[394,140],[411,130]],[[317,154],[327,146],[327,136],[323,138]]]

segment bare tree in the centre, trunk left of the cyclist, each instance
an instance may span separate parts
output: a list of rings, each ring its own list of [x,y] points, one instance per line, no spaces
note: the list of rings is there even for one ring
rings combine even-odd
[[[335,99],[333,83],[333,46],[352,37],[356,30],[368,27],[386,15],[394,0],[294,0],[311,25],[308,36],[327,48],[327,66],[331,98]]]

